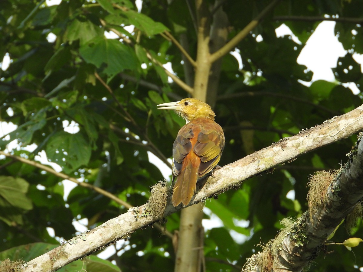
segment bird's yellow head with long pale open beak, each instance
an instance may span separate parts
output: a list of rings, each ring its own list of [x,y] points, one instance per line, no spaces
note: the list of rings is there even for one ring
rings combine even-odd
[[[216,116],[211,106],[196,98],[184,98],[177,102],[159,104],[158,107],[160,110],[175,110],[187,123],[200,117],[214,120]]]

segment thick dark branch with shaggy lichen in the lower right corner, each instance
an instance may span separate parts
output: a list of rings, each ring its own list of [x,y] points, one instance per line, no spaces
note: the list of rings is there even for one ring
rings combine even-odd
[[[309,212],[294,223],[290,221],[289,226],[273,242],[268,243],[264,251],[249,258],[244,272],[266,269],[277,272],[303,271],[317,257],[329,235],[363,197],[362,135],[360,133],[348,162],[341,170],[319,173],[331,177],[330,184],[321,188],[323,197],[314,193],[313,197],[322,200],[322,203],[312,205],[309,201]],[[316,184],[323,185],[321,182]],[[266,259],[265,256],[271,257]]]

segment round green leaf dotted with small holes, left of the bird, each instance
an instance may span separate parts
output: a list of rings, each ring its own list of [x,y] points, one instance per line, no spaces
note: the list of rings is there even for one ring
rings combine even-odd
[[[91,157],[90,144],[81,133],[70,134],[60,131],[46,145],[45,152],[50,161],[59,164],[65,173],[88,164]]]

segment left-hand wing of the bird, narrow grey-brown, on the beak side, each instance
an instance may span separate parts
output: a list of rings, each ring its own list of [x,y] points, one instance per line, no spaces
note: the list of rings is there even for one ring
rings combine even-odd
[[[190,139],[194,137],[193,130],[184,125],[179,132],[173,144],[173,175],[179,175],[182,163],[187,154],[192,150]]]

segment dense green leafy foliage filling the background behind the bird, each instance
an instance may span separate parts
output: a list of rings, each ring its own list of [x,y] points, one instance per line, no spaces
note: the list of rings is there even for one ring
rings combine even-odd
[[[232,26],[231,39],[270,1],[222,3]],[[302,44],[287,36],[277,38],[274,31],[282,24],[276,16],[361,18],[361,6],[358,0],[280,3],[237,44],[241,70],[232,55],[223,57],[213,107],[227,139],[220,165],[362,104],[360,94],[342,85],[354,82],[362,88],[361,67],[354,58],[363,52],[360,23],[337,22],[335,32],[348,53],[333,69],[335,82],[321,80],[311,86],[301,81],[309,82],[312,72],[296,59],[318,23],[284,21]],[[172,143],[184,123],[156,105],[188,95],[175,81],[169,82],[161,66],[170,62],[180,79],[188,76],[182,54],[165,31],[176,39],[186,37],[189,54],[196,58],[197,35],[187,5],[144,0],[139,12],[129,0],[72,0],[50,7],[44,1],[5,0],[0,7],[0,59],[11,59],[9,67],[0,70],[0,120],[17,125],[0,141],[1,151],[17,140],[19,148],[11,151],[16,156],[37,161],[38,152],[44,150],[48,163],[55,162],[70,177],[133,206],[145,203],[150,187],[163,178],[148,154],[169,164]],[[124,26],[130,25],[134,28],[128,32]],[[106,38],[105,31],[117,38]],[[64,129],[66,124],[76,127]],[[307,177],[316,170],[339,168],[354,141],[351,137],[301,156],[207,201],[206,207],[223,223],[206,230],[207,271],[236,271],[252,250],[258,250],[254,245],[260,238],[264,242],[274,238],[281,219],[301,215],[307,207]],[[37,147],[26,148],[30,144]],[[87,218],[87,227],[92,228],[126,210],[85,187],[76,186],[67,195],[63,179],[54,173],[0,158],[1,260],[29,260],[57,246],[58,240],[72,238],[76,233],[72,222]],[[294,200],[286,197],[291,191]],[[167,218],[165,226],[170,232],[177,230],[179,215]],[[59,239],[47,228],[53,228]],[[355,237],[363,236],[362,221],[353,231]],[[339,228],[334,239],[344,241],[348,235]],[[356,270],[353,265],[363,266],[363,249],[353,250],[355,256],[334,248],[316,260],[314,270]],[[155,228],[132,234],[117,251],[109,260],[121,270],[171,271],[174,266],[172,241]],[[76,261],[64,271],[80,271],[82,265]],[[86,268],[119,271],[94,256]]]

